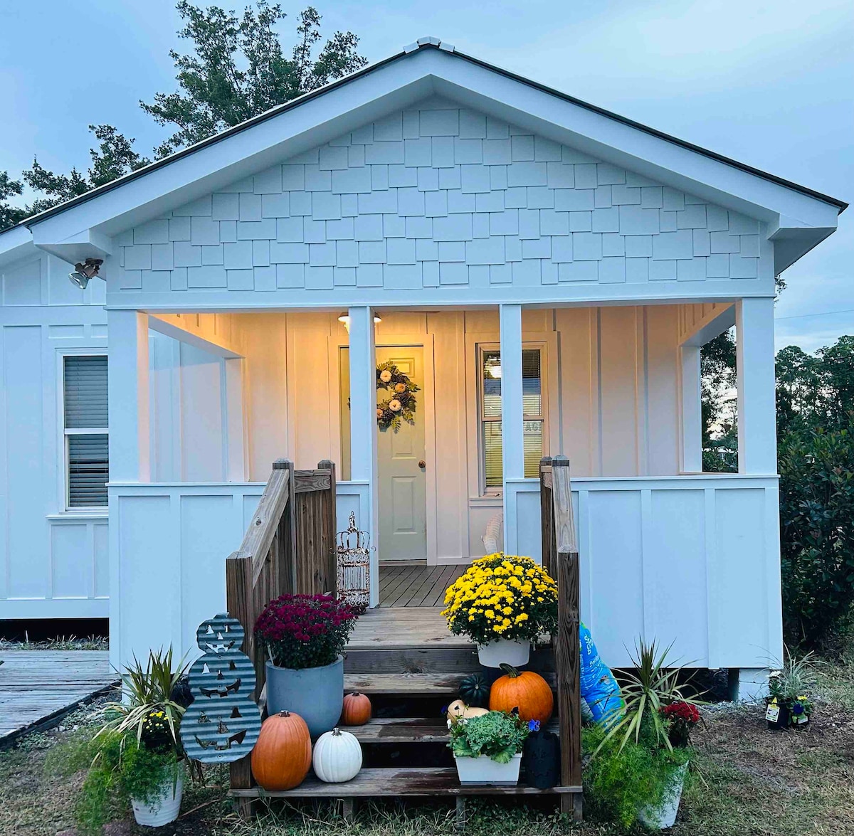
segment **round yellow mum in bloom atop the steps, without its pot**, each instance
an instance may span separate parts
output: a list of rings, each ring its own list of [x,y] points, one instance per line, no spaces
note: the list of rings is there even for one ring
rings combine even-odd
[[[558,585],[531,558],[502,552],[475,560],[445,593],[447,628],[478,645],[535,641],[558,622]]]

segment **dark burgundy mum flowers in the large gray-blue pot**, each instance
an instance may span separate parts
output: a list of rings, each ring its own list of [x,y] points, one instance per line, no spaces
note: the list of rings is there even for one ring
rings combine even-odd
[[[255,623],[255,638],[278,668],[319,668],[338,658],[358,613],[331,595],[282,595]]]

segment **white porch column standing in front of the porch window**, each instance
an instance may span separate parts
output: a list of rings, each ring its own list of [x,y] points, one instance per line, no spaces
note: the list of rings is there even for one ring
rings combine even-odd
[[[504,470],[504,547],[516,548],[515,502],[508,502],[508,480],[525,475],[522,405],[522,306],[499,307],[501,348],[501,465]]]

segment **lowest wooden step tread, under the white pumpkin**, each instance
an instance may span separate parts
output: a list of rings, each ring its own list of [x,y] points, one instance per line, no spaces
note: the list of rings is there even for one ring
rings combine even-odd
[[[343,784],[325,784],[309,775],[300,786],[284,792],[265,792],[258,786],[231,790],[236,798],[354,798],[369,796],[432,795],[553,795],[581,792],[580,786],[553,786],[538,790],[535,786],[461,786],[454,767],[403,767],[401,769],[362,769],[353,780]]]

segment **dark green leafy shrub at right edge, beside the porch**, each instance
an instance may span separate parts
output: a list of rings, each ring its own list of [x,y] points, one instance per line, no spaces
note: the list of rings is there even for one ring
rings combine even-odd
[[[787,633],[827,650],[854,604],[854,436],[789,433],[780,441],[779,469]]]

